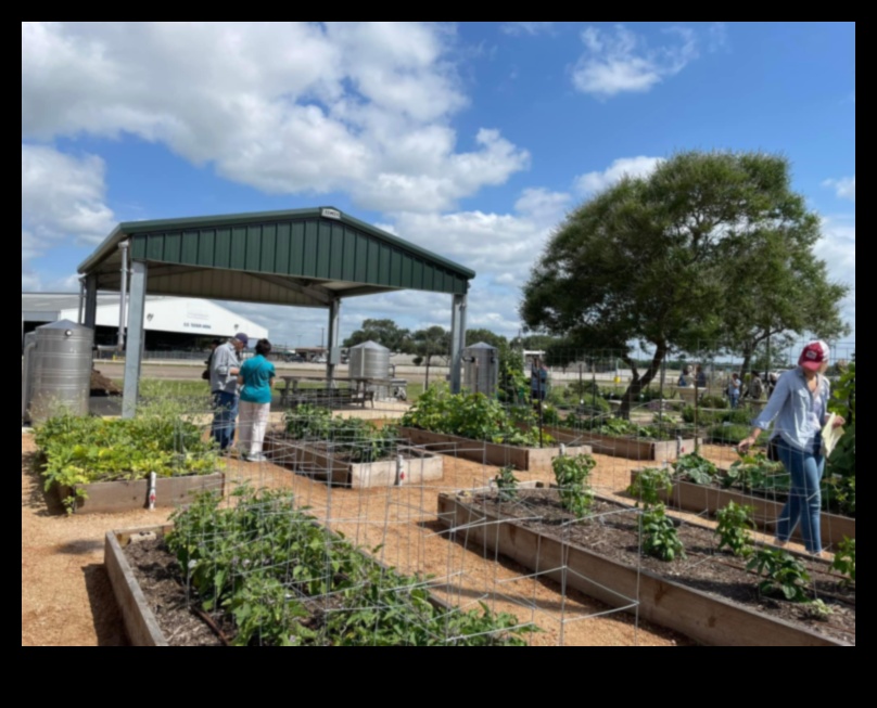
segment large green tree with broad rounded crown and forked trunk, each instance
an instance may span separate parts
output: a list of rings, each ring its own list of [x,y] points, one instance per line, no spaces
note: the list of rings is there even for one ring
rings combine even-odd
[[[524,286],[521,316],[581,350],[621,352],[633,372],[626,415],[671,352],[728,338],[739,266],[757,258],[771,234],[800,237],[815,262],[818,224],[791,190],[785,158],[679,153],[567,217]],[[654,351],[645,371],[632,343]]]

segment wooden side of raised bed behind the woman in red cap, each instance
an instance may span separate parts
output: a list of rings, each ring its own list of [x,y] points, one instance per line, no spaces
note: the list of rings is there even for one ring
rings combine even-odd
[[[641,469],[631,472],[631,485],[641,474]],[[725,509],[730,502],[740,506],[751,506],[755,510],[753,520],[760,529],[774,531],[776,519],[783,513],[784,502],[773,501],[759,497],[758,494],[745,493],[736,489],[722,489],[716,485],[696,485],[690,481],[673,481],[673,491],[668,494],[664,490],[659,490],[661,500],[685,512],[695,514],[714,515],[717,511]],[[827,548],[837,548],[844,538],[855,538],[855,519],[836,514],[822,514],[822,542]],[[802,540],[800,526],[796,530],[793,538]]]

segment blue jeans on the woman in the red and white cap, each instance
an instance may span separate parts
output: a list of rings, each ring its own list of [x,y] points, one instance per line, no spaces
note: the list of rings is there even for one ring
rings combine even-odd
[[[811,553],[822,553],[822,478],[825,458],[822,454],[822,437],[816,436],[809,451],[791,447],[783,438],[777,439],[779,460],[791,476],[789,501],[777,520],[776,538],[788,541],[798,524],[804,545]]]

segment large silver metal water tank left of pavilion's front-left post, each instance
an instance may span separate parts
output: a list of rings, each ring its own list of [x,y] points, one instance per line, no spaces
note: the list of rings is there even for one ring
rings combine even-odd
[[[59,412],[88,415],[94,332],[62,320],[37,327],[36,335],[31,422],[41,423]]]

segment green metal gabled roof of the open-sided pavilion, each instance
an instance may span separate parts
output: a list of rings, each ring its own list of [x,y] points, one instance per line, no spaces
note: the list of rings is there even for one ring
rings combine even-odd
[[[325,307],[398,289],[465,294],[475,276],[332,207],[120,223],[79,272],[117,288],[123,241],[150,265],[156,295]]]

